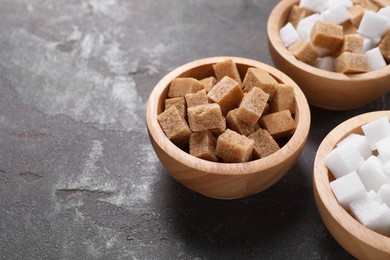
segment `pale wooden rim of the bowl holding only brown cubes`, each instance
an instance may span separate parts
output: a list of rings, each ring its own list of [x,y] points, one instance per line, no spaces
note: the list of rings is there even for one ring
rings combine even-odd
[[[224,61],[226,59],[232,59],[236,64],[266,69],[271,75],[278,78],[283,83],[294,86],[294,93],[297,101],[296,106],[297,111],[299,111],[299,113],[296,113],[295,115],[295,117],[298,118],[296,130],[290,140],[279,151],[265,158],[245,163],[210,162],[196,158],[173,144],[166,137],[157,121],[158,97],[169,86],[173,79],[196,67],[205,65],[211,66],[212,64]],[[203,172],[209,172],[213,174],[244,175],[275,167],[287,158],[291,157],[300,147],[303,147],[310,129],[310,108],[305,95],[300,90],[298,85],[283,72],[271,67],[270,65],[252,59],[234,56],[218,56],[203,58],[186,63],[164,76],[157,83],[149,96],[146,109],[146,123],[149,134],[157,143],[157,145],[169,156],[173,157],[177,161],[180,161],[180,163],[190,168],[195,168]]]

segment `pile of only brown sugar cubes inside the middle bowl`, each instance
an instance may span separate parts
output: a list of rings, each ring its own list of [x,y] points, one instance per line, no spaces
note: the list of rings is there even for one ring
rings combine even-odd
[[[242,81],[231,59],[213,69],[215,77],[171,82],[157,118],[165,135],[213,162],[242,163],[278,151],[296,127],[294,87],[260,68],[249,68]]]

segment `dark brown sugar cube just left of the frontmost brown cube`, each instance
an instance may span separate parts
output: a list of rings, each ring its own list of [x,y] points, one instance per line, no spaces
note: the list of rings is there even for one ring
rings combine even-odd
[[[195,132],[190,136],[190,154],[197,158],[217,162],[216,146],[217,139],[210,131]]]

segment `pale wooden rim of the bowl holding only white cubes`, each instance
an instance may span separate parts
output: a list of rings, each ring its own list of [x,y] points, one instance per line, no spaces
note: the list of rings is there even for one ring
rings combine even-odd
[[[381,235],[361,224],[352,217],[337,201],[334,196],[329,182],[331,174],[325,166],[324,157],[336,147],[336,144],[350,133],[357,131],[362,125],[387,116],[390,120],[390,110],[382,110],[368,112],[352,117],[338,126],[336,126],[321,142],[314,160],[313,169],[313,189],[318,195],[318,199],[324,205],[326,210],[343,229],[351,234],[360,242],[369,245],[371,248],[376,248],[390,255],[390,237]],[[317,201],[316,201],[317,203]],[[319,204],[317,203],[317,207]],[[325,222],[325,225],[327,223]],[[329,228],[329,227],[328,227]],[[331,230],[330,230],[331,231]],[[332,231],[331,231],[332,233]],[[340,239],[338,235],[334,235],[336,240]],[[342,244],[342,243],[340,243]]]

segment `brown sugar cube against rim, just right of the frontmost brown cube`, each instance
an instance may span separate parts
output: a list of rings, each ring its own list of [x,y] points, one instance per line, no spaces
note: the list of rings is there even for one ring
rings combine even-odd
[[[255,159],[267,157],[280,150],[278,143],[265,129],[257,130],[249,135],[248,138],[255,141],[255,146],[253,147],[253,157]]]

